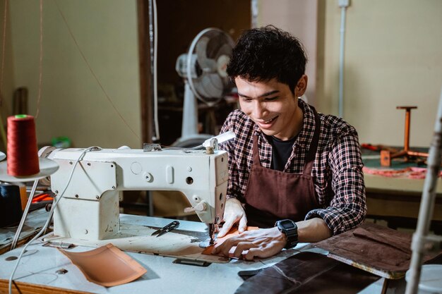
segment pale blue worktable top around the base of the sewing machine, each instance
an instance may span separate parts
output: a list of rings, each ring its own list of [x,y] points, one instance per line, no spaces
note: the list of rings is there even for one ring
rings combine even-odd
[[[142,221],[145,223],[166,224],[170,221],[169,219],[126,214],[121,214],[121,219],[126,222],[136,221],[138,223]],[[180,221],[180,228],[187,231],[204,231],[205,224],[193,221]],[[255,262],[232,259],[227,264],[213,263],[208,267],[175,264],[175,259],[172,257],[126,252],[145,267],[147,273],[131,283],[106,288],[87,281],[81,271],[56,248],[43,247],[42,242],[35,241],[35,243],[28,246],[28,252],[20,260],[14,275],[14,281],[103,294],[146,293],[147,289],[155,289],[153,293],[234,293],[243,282],[238,275],[239,271],[269,267],[289,256],[297,254],[305,247],[306,243],[301,243],[293,250],[282,250],[280,254],[268,259],[260,259]],[[90,247],[78,246],[70,251],[84,252],[91,249]],[[315,250],[317,252],[318,249]],[[18,256],[20,251],[21,248],[16,248],[4,253],[4,255],[0,255],[0,281],[3,280],[1,285],[5,285],[5,280],[7,281],[11,276],[13,267],[16,265],[16,261],[7,261],[6,259],[11,256]],[[326,252],[321,253],[325,254]],[[67,273],[56,274],[56,271],[59,269],[66,269]],[[380,279],[360,293],[381,293],[382,283],[383,279]],[[0,293],[1,290],[6,289],[0,288]]]

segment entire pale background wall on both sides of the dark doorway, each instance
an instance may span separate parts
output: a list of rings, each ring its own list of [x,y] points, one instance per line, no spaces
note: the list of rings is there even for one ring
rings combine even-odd
[[[39,2],[8,1],[4,116],[12,90],[22,86],[29,89],[30,114],[37,111]],[[79,147],[139,147],[136,1],[43,3],[39,142],[66,135]],[[310,59],[307,95],[319,111],[338,114],[338,1],[259,0],[258,25],[269,23],[304,42]],[[415,105],[410,144],[428,146],[442,86],[442,1],[353,0],[346,25],[345,120],[357,128],[361,142],[402,145],[405,115],[395,107]]]

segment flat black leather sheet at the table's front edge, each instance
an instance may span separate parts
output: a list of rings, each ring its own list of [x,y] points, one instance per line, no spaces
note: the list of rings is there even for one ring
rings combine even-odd
[[[246,293],[357,293],[378,276],[313,252],[301,252],[259,271],[237,288]]]

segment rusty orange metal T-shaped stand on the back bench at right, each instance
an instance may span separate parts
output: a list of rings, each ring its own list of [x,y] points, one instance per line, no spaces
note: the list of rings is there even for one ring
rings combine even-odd
[[[416,152],[410,149],[411,110],[417,109],[417,106],[397,106],[396,109],[405,109],[404,149],[398,152],[381,150],[381,166],[391,166],[391,160],[400,157],[403,157],[405,161],[420,161],[419,157],[428,157],[428,153]]]

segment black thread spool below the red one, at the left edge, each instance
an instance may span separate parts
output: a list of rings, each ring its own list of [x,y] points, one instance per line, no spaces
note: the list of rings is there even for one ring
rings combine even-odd
[[[18,223],[22,214],[18,185],[0,185],[0,228]]]

